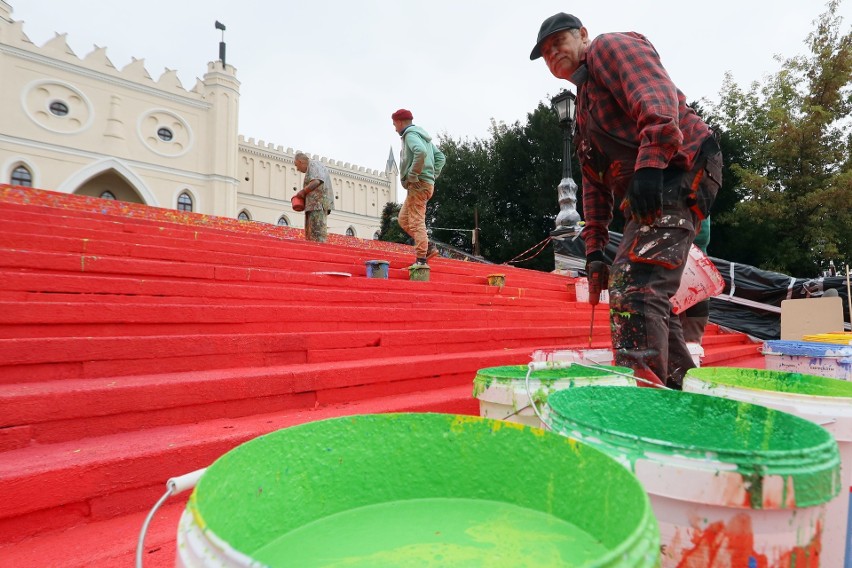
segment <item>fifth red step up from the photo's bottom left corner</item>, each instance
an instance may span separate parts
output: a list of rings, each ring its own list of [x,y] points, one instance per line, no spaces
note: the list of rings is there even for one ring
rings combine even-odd
[[[561,310],[547,307],[386,304],[327,305],[321,296],[294,295],[289,304],[194,305],[188,303],[2,302],[0,337],[94,337],[210,333],[285,333],[341,329],[408,329],[560,325]],[[299,311],[294,311],[294,306]],[[562,308],[564,306],[560,306]],[[310,318],[301,314],[310,314]],[[252,325],[255,324],[255,325]],[[449,325],[447,325],[449,324]]]

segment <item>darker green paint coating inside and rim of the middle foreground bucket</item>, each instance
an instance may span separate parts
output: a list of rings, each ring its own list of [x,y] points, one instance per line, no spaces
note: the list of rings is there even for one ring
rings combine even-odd
[[[840,490],[840,455],[816,424],[763,406],[700,394],[629,387],[569,389],[548,399],[553,429],[635,468],[637,459],[691,458],[736,468],[761,508],[763,480],[792,482],[797,507]],[[783,503],[780,506],[784,506]]]

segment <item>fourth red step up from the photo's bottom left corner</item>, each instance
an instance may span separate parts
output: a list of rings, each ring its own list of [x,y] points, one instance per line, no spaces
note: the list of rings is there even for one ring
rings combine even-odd
[[[585,326],[0,339],[0,384],[336,362],[571,343]]]

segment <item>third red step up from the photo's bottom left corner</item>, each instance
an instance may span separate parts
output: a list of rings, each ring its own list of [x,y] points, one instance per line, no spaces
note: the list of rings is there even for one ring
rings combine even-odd
[[[540,344],[548,348],[553,344]],[[0,449],[469,384],[533,348],[0,385]],[[61,405],[53,401],[62,400]],[[5,440],[5,441],[4,441]]]

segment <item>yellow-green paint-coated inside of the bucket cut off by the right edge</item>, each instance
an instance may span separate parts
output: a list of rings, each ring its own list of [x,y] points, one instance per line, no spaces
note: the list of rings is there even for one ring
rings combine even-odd
[[[694,377],[711,386],[725,385],[810,396],[852,398],[852,382],[803,373],[737,367],[704,367],[690,369],[686,376]]]

